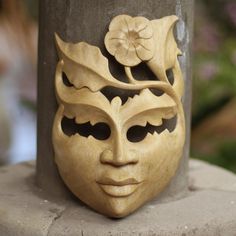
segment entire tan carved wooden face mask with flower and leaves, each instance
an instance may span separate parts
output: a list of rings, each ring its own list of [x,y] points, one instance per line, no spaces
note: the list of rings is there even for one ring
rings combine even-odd
[[[98,47],[55,36],[60,59],[55,161],[68,188],[105,215],[124,217],[157,196],[182,157],[184,86],[177,58],[181,52],[173,36],[177,20],[119,15],[111,21],[105,46],[123,66],[127,83],[110,73]],[[156,80],[135,78],[132,68],[140,63],[146,63]],[[138,92],[123,102],[120,96],[107,98],[107,87]]]

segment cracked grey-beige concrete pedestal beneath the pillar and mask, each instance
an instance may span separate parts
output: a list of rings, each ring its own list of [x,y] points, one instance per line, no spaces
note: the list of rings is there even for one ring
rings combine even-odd
[[[236,176],[190,161],[189,193],[113,220],[35,187],[34,162],[0,168],[1,236],[235,236]]]

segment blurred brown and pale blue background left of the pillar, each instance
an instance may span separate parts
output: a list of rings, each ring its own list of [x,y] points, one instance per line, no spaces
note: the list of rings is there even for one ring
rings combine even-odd
[[[35,158],[36,1],[0,0],[0,164]]]

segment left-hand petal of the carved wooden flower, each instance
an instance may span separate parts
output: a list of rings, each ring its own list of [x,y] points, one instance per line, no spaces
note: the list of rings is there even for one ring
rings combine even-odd
[[[126,42],[126,35],[122,31],[109,31],[105,36],[105,46],[107,51],[114,55],[117,48]]]

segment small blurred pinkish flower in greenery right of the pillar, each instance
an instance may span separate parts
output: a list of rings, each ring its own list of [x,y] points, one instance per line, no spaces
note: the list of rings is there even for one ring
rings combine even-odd
[[[209,61],[199,67],[199,76],[203,80],[211,80],[218,73],[219,68],[215,62]]]

